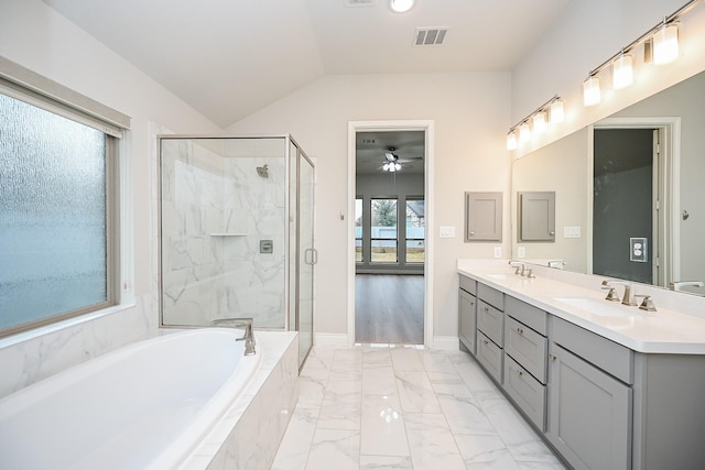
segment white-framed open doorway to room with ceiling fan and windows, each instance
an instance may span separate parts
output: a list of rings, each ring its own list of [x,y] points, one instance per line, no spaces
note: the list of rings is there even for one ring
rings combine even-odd
[[[350,122],[348,144],[348,343],[431,346],[433,122]]]

